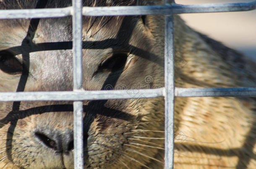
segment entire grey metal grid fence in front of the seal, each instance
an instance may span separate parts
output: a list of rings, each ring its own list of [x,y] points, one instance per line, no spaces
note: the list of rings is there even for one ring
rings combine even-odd
[[[73,16],[73,91],[6,92],[0,101],[74,101],[74,164],[83,168],[82,114],[84,100],[120,98],[165,97],[165,169],[173,168],[174,151],[174,97],[256,96],[256,88],[175,88],[173,17],[180,13],[212,13],[249,11],[256,9],[251,3],[179,5],[165,0],[163,6],[82,7],[82,0],[72,0],[72,7],[52,9],[0,10],[0,19],[55,18]],[[165,88],[126,91],[83,91],[82,16],[165,15]],[[169,87],[171,86],[171,87]],[[141,95],[143,94],[143,95]]]

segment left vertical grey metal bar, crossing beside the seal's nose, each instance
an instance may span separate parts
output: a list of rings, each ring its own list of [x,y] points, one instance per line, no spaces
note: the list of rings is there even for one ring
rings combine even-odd
[[[82,89],[82,0],[72,0],[73,9],[73,91]],[[74,101],[74,167],[84,168],[83,102]]]

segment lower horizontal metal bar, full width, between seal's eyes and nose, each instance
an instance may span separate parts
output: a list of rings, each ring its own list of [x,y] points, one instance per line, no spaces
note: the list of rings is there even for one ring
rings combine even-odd
[[[83,101],[165,96],[165,88],[111,91],[2,92],[0,101]],[[175,88],[177,97],[256,97],[256,88]]]

